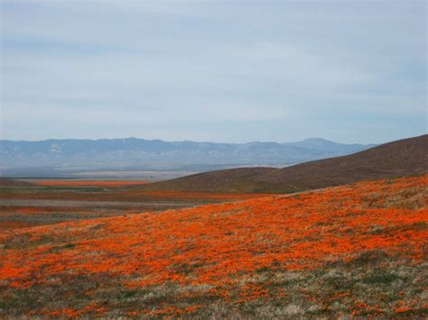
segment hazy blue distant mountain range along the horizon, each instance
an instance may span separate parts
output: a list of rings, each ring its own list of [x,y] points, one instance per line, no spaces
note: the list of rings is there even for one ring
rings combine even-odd
[[[0,141],[0,173],[31,169],[185,170],[274,166],[319,160],[357,151],[374,144],[343,144],[312,138],[302,142],[164,142],[136,138],[102,140]],[[43,171],[43,172],[44,172]]]

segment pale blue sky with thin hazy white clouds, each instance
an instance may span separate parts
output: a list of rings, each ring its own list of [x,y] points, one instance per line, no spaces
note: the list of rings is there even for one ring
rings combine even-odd
[[[1,139],[427,132],[423,0],[0,2]]]

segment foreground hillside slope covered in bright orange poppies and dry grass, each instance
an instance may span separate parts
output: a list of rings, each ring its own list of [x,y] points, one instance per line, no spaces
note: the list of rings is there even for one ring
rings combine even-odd
[[[0,315],[425,317],[427,185],[368,181],[5,231]]]

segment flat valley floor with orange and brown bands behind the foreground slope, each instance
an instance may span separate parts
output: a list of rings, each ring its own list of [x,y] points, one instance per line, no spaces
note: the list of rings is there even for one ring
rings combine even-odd
[[[144,191],[142,181],[36,179],[0,186],[0,231],[260,197]]]

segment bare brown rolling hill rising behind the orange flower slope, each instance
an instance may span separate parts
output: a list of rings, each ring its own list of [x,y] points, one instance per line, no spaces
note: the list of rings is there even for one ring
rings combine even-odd
[[[428,172],[428,135],[389,142],[348,156],[315,160],[284,169],[210,171],[144,186],[145,190],[283,193],[361,180]]]

